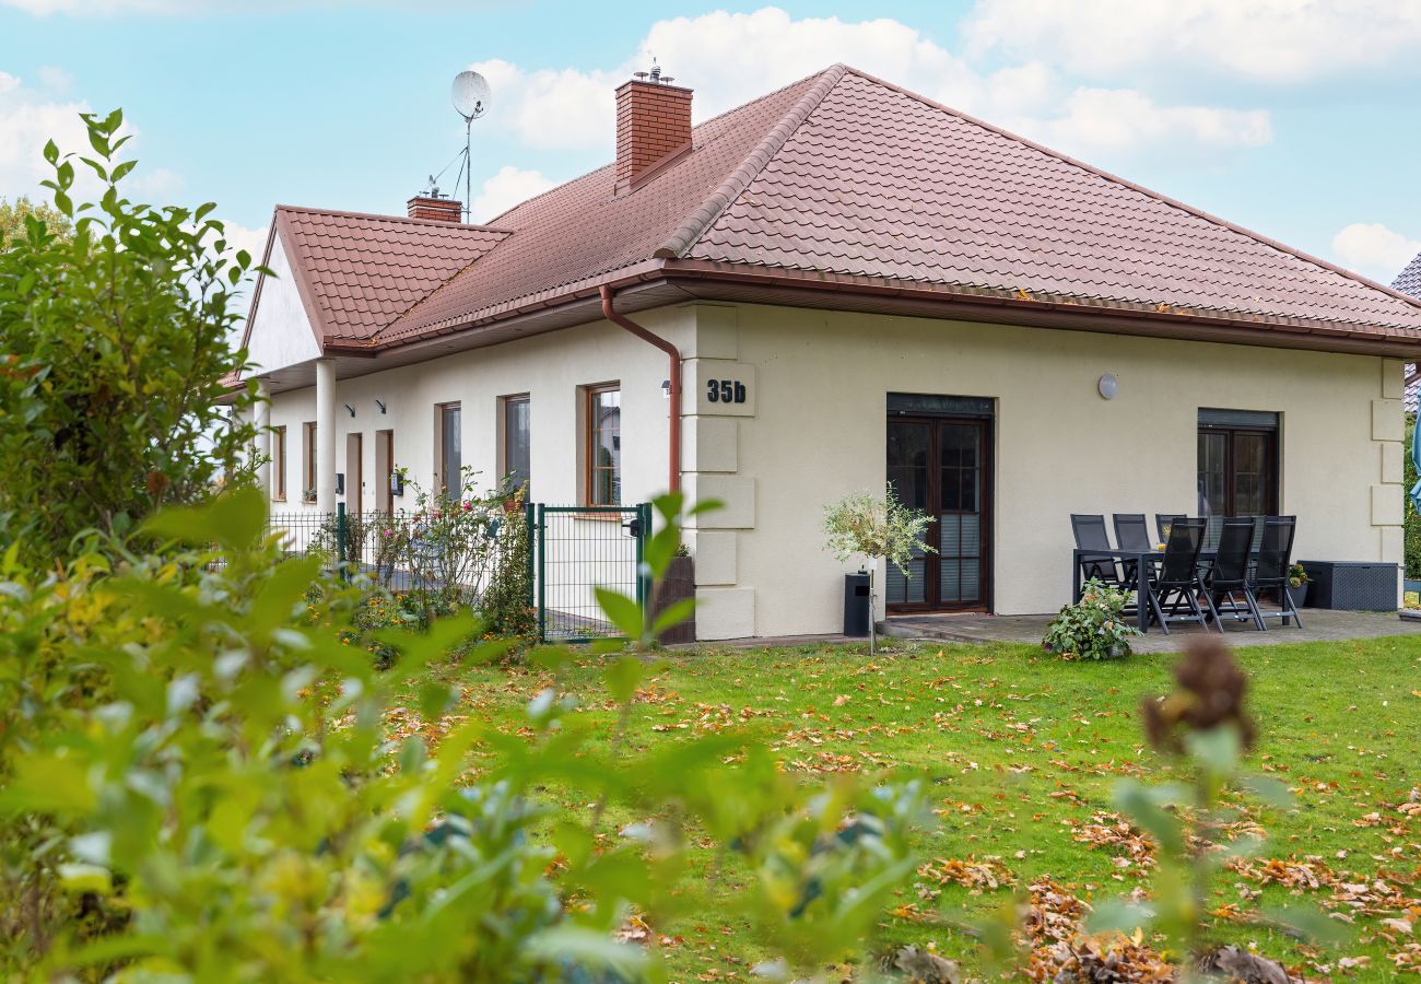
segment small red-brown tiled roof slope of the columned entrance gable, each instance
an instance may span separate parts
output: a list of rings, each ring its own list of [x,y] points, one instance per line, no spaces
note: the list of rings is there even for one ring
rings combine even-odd
[[[432,219],[279,205],[276,225],[330,341],[365,341],[509,233]]]

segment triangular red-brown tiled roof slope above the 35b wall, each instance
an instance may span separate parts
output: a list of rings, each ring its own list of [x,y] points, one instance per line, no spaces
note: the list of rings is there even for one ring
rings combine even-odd
[[[1421,307],[848,71],[691,259],[1421,328]]]

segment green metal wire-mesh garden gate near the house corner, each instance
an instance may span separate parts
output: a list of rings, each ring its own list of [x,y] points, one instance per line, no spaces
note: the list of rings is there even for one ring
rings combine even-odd
[[[651,505],[549,506],[530,503],[529,573],[539,638],[581,643],[621,633],[603,616],[594,589],[635,599],[647,610],[642,550]]]

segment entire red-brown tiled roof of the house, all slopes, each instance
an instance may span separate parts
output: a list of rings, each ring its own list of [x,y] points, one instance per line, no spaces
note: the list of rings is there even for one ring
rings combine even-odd
[[[323,252],[342,337],[402,344],[615,276],[715,270],[1421,344],[1418,301],[843,65],[701,124],[630,192],[607,165],[493,225],[512,235],[443,226],[465,252],[432,262]]]

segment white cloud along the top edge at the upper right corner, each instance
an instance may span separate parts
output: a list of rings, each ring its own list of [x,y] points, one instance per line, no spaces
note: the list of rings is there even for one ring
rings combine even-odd
[[[973,53],[1087,78],[1222,70],[1296,82],[1412,67],[1421,0],[976,0],[962,34]]]

